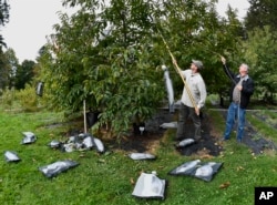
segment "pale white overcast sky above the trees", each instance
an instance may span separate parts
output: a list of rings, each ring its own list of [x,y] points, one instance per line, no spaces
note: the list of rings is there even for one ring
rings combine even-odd
[[[11,7],[10,21],[0,32],[9,48],[16,51],[21,63],[35,60],[38,51],[47,42],[45,37],[53,33],[52,27],[59,23],[58,11],[64,11],[61,0],[8,0]],[[224,14],[229,3],[238,9],[238,17],[245,17],[247,0],[218,0],[218,13]]]

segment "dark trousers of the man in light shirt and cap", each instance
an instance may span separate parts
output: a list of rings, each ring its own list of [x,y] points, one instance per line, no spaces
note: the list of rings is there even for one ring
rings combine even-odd
[[[176,139],[182,140],[185,136],[185,123],[188,119],[188,116],[192,117],[195,133],[194,139],[197,141],[201,139],[201,117],[195,113],[194,107],[189,107],[181,103],[179,111],[178,111],[178,123],[177,123],[177,134]]]

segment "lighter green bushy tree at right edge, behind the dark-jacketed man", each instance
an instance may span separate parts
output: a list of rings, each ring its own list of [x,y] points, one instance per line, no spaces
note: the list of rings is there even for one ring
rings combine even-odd
[[[277,92],[277,32],[269,27],[254,29],[244,44],[245,59],[250,62],[250,74],[256,82],[256,94],[274,103]]]

